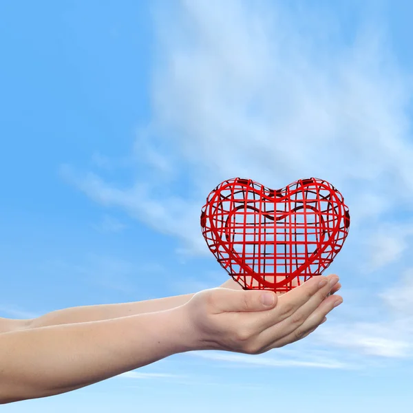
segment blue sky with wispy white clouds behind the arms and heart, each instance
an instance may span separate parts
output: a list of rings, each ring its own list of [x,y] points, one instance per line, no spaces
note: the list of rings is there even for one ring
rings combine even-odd
[[[4,412],[411,410],[413,6],[358,3],[1,2],[0,317],[218,286],[199,214],[226,178],[324,178],[352,215],[308,339]]]

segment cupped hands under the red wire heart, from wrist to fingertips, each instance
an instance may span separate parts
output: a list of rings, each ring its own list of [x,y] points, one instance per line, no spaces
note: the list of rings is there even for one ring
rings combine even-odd
[[[341,297],[329,295],[338,279],[313,277],[279,297],[263,290],[200,291],[182,306],[193,348],[261,354],[303,339],[341,304]]]

